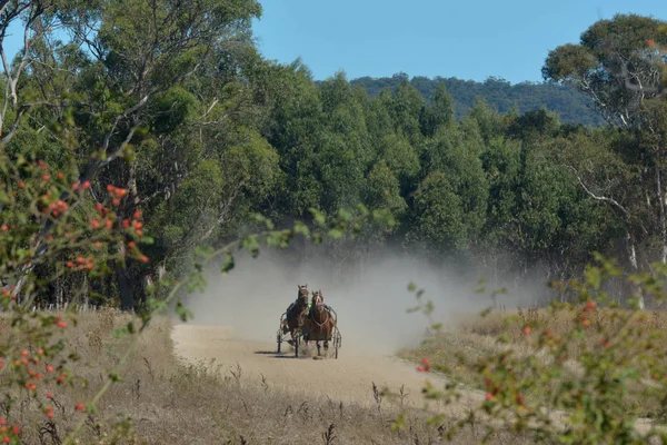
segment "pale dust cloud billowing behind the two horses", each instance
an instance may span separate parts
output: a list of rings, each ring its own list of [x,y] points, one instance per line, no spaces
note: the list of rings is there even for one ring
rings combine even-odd
[[[420,313],[406,313],[416,303],[409,283],[426,290],[422,298],[435,304],[434,322],[446,326],[491,305],[488,294],[475,291],[479,277],[461,277],[402,255],[376,255],[348,280],[335,276],[330,261],[295,264],[280,251],[241,255],[236,261],[227,276],[211,270],[206,291],[190,295],[186,304],[195,316],[190,323],[229,326],[238,339],[276,342],[280,315],[296,299],[298,284],[322,290],[325,303],[338,314],[344,350],[358,353],[392,354],[419,342],[429,322]],[[508,309],[526,303],[526,296],[500,298]]]

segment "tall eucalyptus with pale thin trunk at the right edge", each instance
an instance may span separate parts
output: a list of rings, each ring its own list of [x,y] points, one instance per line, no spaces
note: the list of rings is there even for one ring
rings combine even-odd
[[[627,260],[635,270],[641,267],[641,257],[651,261],[649,255],[637,250],[654,234],[661,239],[659,258],[667,263],[663,161],[666,147],[659,137],[664,130],[658,111],[664,101],[661,77],[666,60],[655,46],[667,43],[667,34],[660,32],[665,24],[637,14],[600,20],[581,34],[578,44],[550,51],[542,68],[545,79],[577,87],[591,98],[611,127],[627,134],[617,138],[619,144],[607,146],[615,151],[609,156],[627,165],[623,177],[600,176],[598,172],[608,170],[607,166],[595,164],[595,157],[585,154],[578,157],[578,164],[574,162],[576,157],[571,158],[568,167],[590,198],[611,206],[625,220]],[[628,175],[641,190],[639,195],[628,194]]]

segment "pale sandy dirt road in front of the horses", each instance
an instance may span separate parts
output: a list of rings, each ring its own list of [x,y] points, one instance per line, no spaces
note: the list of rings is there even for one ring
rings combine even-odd
[[[408,394],[404,403],[422,406],[425,382],[429,379],[440,387],[445,383],[437,375],[418,373],[414,365],[398,358],[355,352],[352,339],[347,342],[351,343],[348,346],[344,338],[338,359],[332,358],[332,348],[331,358],[313,359],[315,345],[310,346],[310,355],[295,358],[287,344],[282,345],[283,354],[277,354],[275,343],[235,338],[232,329],[219,326],[176,325],[172,338],[177,354],[186,360],[215,358],[228,373],[236,373],[240,366],[246,380],[259,384],[263,375],[275,387],[332,400],[372,405],[375,383],[380,390],[388,387],[392,392],[402,385]],[[479,399],[478,395],[471,397]]]

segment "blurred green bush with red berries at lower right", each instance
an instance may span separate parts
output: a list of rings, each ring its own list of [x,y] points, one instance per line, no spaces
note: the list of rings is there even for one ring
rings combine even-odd
[[[427,387],[427,398],[452,403],[461,383],[485,392],[475,413],[449,428],[449,437],[475,423],[489,437],[504,431],[540,443],[667,443],[660,426],[667,407],[667,316],[637,309],[637,295],[620,307],[603,290],[607,280],[624,280],[663,301],[667,267],[656,264],[654,270],[625,277],[598,257],[583,280],[567,284],[577,303],[509,316],[487,312],[458,333],[435,325],[419,349],[402,355],[427,357],[426,370],[459,382],[444,390]],[[416,309],[430,314],[432,304],[421,301],[421,291],[418,299]]]

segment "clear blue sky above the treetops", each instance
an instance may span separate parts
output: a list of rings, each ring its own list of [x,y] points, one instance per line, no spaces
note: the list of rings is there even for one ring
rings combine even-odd
[[[490,76],[541,81],[550,49],[578,42],[599,19],[634,12],[667,20],[657,0],[260,0],[255,26],[262,55],[301,57],[316,79]]]

